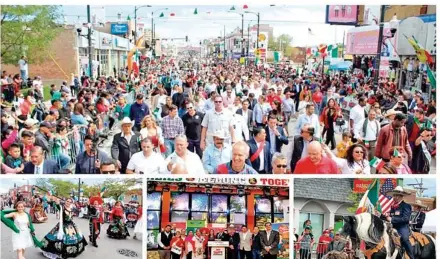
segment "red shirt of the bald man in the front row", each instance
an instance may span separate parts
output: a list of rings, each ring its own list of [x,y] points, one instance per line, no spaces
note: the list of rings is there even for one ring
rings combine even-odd
[[[339,174],[336,162],[322,157],[321,162],[315,165],[310,160],[310,157],[301,158],[296,164],[294,174]]]

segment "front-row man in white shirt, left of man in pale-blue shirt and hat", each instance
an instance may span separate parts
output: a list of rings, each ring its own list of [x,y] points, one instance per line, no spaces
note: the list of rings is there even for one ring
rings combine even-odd
[[[167,159],[165,159],[166,170],[162,171],[164,174],[172,174],[176,172],[177,166],[184,166],[188,174],[191,175],[204,175],[206,174],[203,168],[200,157],[189,151],[188,139],[185,135],[178,135],[174,142],[175,151]],[[176,170],[175,170],[176,169]],[[181,171],[181,170],[179,170]],[[185,171],[185,170],[183,170]]]

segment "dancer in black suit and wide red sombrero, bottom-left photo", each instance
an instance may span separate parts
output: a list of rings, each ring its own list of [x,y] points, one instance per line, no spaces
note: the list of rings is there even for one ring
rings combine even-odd
[[[99,234],[101,234],[101,224],[104,223],[104,215],[101,207],[103,202],[104,201],[99,196],[94,196],[89,199],[89,240],[92,242],[94,247],[98,247],[96,240],[98,239]]]

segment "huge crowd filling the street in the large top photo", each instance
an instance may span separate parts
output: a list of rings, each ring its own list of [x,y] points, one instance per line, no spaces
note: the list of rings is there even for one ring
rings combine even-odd
[[[46,108],[41,78],[23,94],[4,71],[3,173],[433,173],[435,95],[394,81],[166,57],[127,72],[72,75]]]

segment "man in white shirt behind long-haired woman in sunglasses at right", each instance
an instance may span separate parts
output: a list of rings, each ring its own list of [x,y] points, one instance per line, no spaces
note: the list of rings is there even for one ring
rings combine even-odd
[[[368,118],[363,119],[357,124],[354,130],[354,137],[359,142],[364,142],[365,147],[368,149],[368,160],[371,160],[374,157],[379,132],[380,123],[376,120],[376,111],[370,109],[368,112]]]

